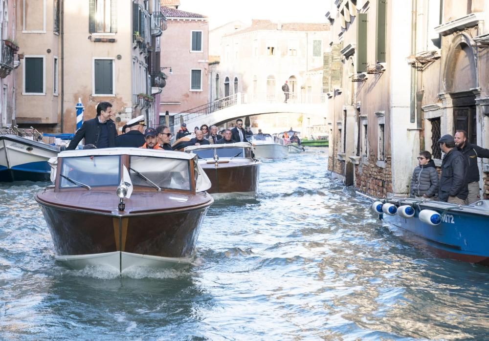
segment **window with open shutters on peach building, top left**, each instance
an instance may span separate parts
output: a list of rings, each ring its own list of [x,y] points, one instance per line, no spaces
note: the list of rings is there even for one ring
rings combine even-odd
[[[89,0],[89,32],[117,32],[117,0]]]

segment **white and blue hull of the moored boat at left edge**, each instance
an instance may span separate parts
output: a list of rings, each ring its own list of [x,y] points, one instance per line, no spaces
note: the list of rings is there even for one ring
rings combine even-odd
[[[51,168],[47,160],[59,149],[15,135],[0,135],[0,182],[47,181]]]

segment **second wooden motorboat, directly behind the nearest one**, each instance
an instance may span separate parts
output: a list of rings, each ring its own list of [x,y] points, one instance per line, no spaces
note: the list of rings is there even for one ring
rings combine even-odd
[[[211,181],[207,191],[214,199],[253,198],[258,190],[260,161],[253,159],[246,142],[189,146]]]

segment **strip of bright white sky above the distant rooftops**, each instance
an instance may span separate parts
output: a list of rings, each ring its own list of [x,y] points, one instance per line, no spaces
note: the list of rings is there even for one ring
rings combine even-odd
[[[327,22],[331,0],[180,0],[178,9],[209,17],[209,28],[229,21],[269,19],[281,22]]]

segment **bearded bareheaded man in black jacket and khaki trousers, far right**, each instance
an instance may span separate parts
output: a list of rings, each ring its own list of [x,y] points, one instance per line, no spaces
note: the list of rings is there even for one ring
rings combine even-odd
[[[468,143],[467,131],[465,130],[457,130],[455,132],[454,140],[455,146],[467,158],[467,204],[470,205],[481,199],[481,192],[479,189],[480,174],[479,166],[477,165],[477,158],[489,158],[489,149],[485,149]]]

